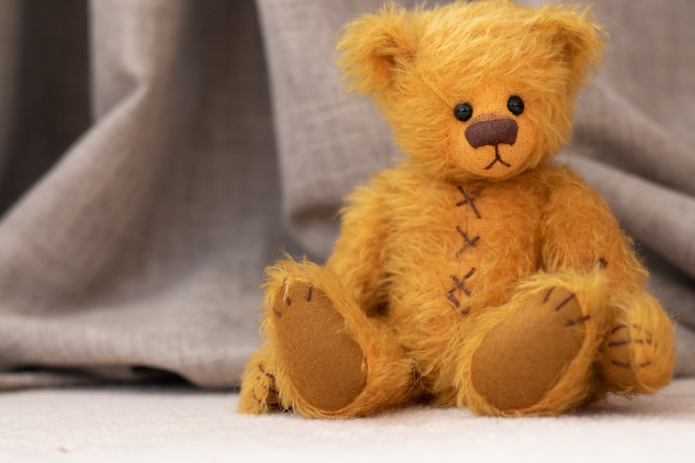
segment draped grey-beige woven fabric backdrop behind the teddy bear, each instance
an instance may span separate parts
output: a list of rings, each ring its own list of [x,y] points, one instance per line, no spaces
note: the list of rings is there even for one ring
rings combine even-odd
[[[237,384],[265,264],[325,258],[400,155],[334,65],[380,3],[0,1],[0,389]],[[639,242],[695,375],[695,2],[594,3],[609,67],[559,160]]]

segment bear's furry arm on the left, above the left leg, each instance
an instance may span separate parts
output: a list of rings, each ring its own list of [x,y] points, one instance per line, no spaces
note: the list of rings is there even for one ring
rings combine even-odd
[[[391,219],[391,189],[381,175],[347,196],[341,214],[341,234],[327,262],[338,280],[367,313],[386,303],[384,244]]]

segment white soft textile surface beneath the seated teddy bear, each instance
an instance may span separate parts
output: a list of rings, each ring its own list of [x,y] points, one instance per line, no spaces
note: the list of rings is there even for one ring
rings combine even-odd
[[[0,462],[686,462],[695,379],[556,418],[409,407],[367,419],[246,416],[238,394],[187,388],[0,395]]]

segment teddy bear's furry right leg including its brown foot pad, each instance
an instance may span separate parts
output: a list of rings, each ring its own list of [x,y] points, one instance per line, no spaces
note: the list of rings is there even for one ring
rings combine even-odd
[[[598,271],[541,274],[522,285],[512,301],[475,322],[459,404],[517,416],[558,414],[586,401],[606,298]]]

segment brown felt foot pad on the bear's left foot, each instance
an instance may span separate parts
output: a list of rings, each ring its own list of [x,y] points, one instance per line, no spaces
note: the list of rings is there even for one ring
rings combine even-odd
[[[297,394],[328,412],[352,403],[366,383],[364,355],[328,296],[293,283],[274,312],[279,355]]]

